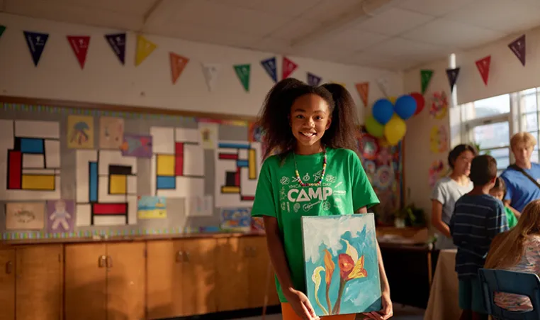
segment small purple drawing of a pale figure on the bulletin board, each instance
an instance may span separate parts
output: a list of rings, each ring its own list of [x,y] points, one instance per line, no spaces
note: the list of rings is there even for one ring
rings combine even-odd
[[[72,232],[75,219],[75,202],[73,200],[47,201],[47,232]]]

